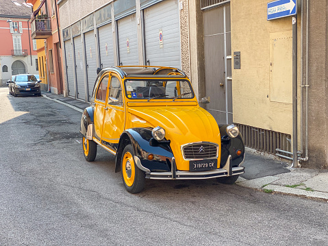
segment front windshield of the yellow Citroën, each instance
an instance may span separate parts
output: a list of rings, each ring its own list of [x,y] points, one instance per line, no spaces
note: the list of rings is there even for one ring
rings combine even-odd
[[[190,82],[185,79],[178,80],[125,80],[125,95],[129,99],[191,99],[194,92]]]

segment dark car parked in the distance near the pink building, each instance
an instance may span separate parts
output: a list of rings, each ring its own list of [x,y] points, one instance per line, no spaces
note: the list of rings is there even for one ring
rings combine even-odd
[[[12,95],[41,95],[40,80],[31,74],[16,75],[11,84]]]

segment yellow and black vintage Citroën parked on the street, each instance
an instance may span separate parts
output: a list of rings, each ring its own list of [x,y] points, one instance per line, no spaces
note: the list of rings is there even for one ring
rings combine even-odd
[[[84,156],[92,162],[97,145],[114,154],[115,172],[121,171],[129,193],[139,193],[145,179],[234,184],[244,173],[238,127],[218,125],[199,106],[183,71],[115,66],[97,72],[81,118]]]

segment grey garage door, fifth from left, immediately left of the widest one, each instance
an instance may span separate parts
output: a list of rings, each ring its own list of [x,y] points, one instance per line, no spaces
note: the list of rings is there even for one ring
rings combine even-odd
[[[117,25],[120,64],[123,66],[138,65],[136,14],[119,19]]]

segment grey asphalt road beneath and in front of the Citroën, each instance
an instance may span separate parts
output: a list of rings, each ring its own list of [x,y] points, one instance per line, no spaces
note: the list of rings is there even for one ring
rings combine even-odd
[[[81,114],[0,88],[0,245],[327,245],[328,204],[215,180],[127,193],[114,156],[86,162]]]

